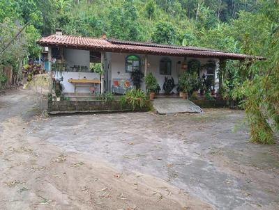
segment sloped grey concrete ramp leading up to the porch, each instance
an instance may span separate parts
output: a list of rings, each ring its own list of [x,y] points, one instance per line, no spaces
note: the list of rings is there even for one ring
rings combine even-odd
[[[174,113],[202,113],[202,109],[181,98],[156,98],[152,102],[153,108],[158,114],[174,114]]]

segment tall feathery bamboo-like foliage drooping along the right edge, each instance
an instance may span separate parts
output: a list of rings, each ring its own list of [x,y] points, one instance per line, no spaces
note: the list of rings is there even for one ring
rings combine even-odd
[[[248,69],[252,79],[246,79],[232,94],[234,99],[243,100],[241,107],[246,111],[251,141],[262,144],[274,143],[274,132],[279,132],[279,3],[273,6],[259,13],[273,23],[262,49],[267,59],[254,60]],[[253,47],[249,49],[254,50]]]

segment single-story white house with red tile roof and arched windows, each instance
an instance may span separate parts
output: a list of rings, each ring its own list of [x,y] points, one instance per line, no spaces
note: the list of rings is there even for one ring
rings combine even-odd
[[[40,39],[38,44],[47,47],[49,62],[56,63],[49,67],[50,72],[56,72],[56,79],[63,76],[63,92],[90,92],[90,88],[94,86],[96,92],[117,93],[116,89],[121,81],[129,81],[130,86],[133,86],[130,73],[141,70],[144,75],[152,72],[156,76],[160,92],[163,93],[165,77],[173,78],[174,82],[178,83],[179,75],[187,71],[190,60],[199,61],[202,66],[199,76],[211,76],[213,86],[218,91],[221,82],[219,79],[222,78],[218,75],[220,62],[227,59],[253,58],[200,47],[63,35],[61,30]],[[100,67],[104,73],[101,76],[91,71],[91,67],[96,63],[102,64]],[[214,63],[214,68],[212,65],[208,68],[206,63]],[[60,70],[54,70],[55,66]],[[141,88],[145,90],[144,82]],[[119,92],[121,93],[121,90]],[[176,88],[172,92],[176,92]]]

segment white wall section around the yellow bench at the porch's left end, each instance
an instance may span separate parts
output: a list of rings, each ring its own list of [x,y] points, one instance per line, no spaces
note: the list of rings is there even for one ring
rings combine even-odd
[[[61,75],[60,73],[55,74],[55,78],[59,79],[63,76],[63,92],[75,92],[75,86],[73,83],[69,83],[68,79],[100,79],[100,75],[91,72],[69,72],[71,70],[71,66],[80,65],[86,66],[89,68],[90,65],[90,51],[86,50],[78,50],[78,49],[64,49],[64,59],[67,65],[68,72],[63,72]],[[89,86],[92,84],[78,84],[77,92],[90,92]]]

